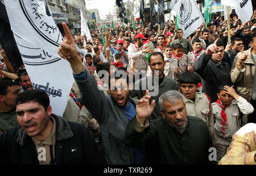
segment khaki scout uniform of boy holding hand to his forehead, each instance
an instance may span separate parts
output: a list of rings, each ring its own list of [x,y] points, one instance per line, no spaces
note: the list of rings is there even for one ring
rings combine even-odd
[[[222,108],[216,102],[212,104],[212,113],[210,115],[214,118],[214,140],[217,146],[217,162],[225,155],[226,149],[229,147],[232,136],[241,128],[241,121],[239,109],[243,114],[253,113],[254,108],[243,97],[239,97],[238,100],[234,100],[227,108],[225,108],[227,124],[225,125],[225,139],[222,131]],[[212,118],[212,117],[211,117]]]

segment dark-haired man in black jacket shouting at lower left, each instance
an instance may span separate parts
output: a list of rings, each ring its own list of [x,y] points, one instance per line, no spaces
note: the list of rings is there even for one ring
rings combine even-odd
[[[0,164],[105,164],[86,127],[52,114],[47,93],[16,98],[20,127],[0,135]]]

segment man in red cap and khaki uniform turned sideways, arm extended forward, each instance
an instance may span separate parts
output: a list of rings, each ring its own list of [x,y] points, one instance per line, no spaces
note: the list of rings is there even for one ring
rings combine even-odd
[[[144,70],[145,75],[147,71],[147,61],[145,61],[146,53],[153,53],[154,50],[143,46],[144,41],[147,40],[142,33],[138,33],[135,36],[135,43],[130,44],[128,47],[129,55],[129,68],[133,68],[133,61],[135,61],[135,69],[138,71]]]

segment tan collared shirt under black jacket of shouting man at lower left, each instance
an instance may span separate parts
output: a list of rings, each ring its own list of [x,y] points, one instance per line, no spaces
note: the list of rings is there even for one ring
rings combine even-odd
[[[38,153],[38,159],[40,165],[49,165],[52,158],[50,154],[50,145],[52,145],[53,158],[55,158],[55,141],[56,141],[56,122],[55,119],[50,117],[53,123],[51,134],[48,135],[46,140],[39,141],[35,137],[32,137],[32,141],[36,145],[36,152]],[[46,153],[45,156],[43,153]]]

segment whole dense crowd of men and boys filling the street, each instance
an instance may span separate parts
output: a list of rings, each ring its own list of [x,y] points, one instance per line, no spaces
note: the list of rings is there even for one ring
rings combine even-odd
[[[188,38],[171,20],[91,41],[63,23],[63,117],[0,48],[0,164],[256,164],[256,11],[230,23],[230,43],[220,15]]]

